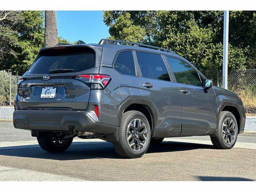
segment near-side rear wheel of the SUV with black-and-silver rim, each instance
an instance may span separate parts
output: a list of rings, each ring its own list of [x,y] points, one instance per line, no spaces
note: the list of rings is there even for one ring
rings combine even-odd
[[[122,116],[118,131],[116,152],[125,158],[139,158],[146,153],[150,144],[150,125],[147,118],[138,111],[128,111]]]

